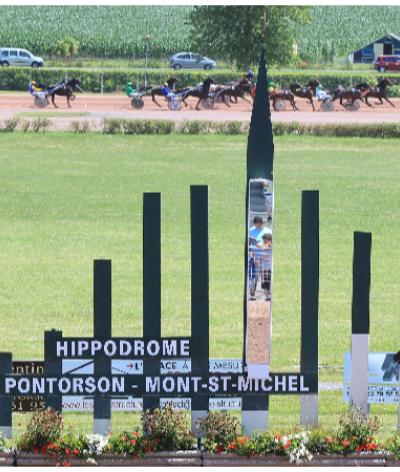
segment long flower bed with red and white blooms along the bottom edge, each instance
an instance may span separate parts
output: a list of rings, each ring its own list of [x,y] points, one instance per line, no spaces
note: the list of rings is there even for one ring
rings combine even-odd
[[[16,443],[0,436],[0,465],[18,466],[398,466],[400,434],[376,436],[377,418],[342,415],[336,431],[240,435],[237,418],[210,412],[199,421],[202,451],[185,416],[171,408],[143,413],[143,431],[107,436],[64,433],[62,416],[36,412]],[[14,447],[17,450],[15,452]]]

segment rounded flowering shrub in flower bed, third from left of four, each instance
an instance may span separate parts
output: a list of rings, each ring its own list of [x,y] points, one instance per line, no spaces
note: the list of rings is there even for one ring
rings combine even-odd
[[[240,432],[238,419],[225,411],[210,411],[206,418],[198,421],[197,428],[205,435],[204,447],[210,452],[229,450]]]

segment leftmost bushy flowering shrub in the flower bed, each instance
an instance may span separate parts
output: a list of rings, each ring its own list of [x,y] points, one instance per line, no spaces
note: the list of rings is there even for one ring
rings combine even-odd
[[[48,444],[58,441],[63,430],[63,418],[51,408],[35,411],[27,424],[26,431],[17,441],[23,451],[47,452]]]

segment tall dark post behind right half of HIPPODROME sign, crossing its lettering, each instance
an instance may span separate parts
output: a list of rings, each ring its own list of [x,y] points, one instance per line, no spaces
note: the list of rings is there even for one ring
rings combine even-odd
[[[145,193],[143,200],[143,337],[161,337],[161,195]],[[144,375],[160,374],[160,359],[145,359]],[[143,398],[143,410],[157,408],[160,397]]]

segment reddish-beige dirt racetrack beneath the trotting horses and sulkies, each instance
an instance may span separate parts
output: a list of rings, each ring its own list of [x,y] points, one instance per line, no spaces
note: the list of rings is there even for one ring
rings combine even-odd
[[[95,94],[77,94],[76,100],[71,102],[72,108],[67,107],[64,97],[57,97],[56,104],[59,108],[54,108],[50,103],[46,108],[39,109],[34,106],[33,97],[27,94],[0,94],[0,120],[5,120],[17,113],[26,112],[52,112],[51,118],[53,127],[58,129],[67,129],[71,121],[81,119],[91,119],[100,122],[106,117],[132,118],[132,119],[168,119],[175,121],[182,120],[215,120],[215,121],[249,121],[251,117],[250,103],[239,99],[238,104],[232,104],[227,107],[218,103],[212,110],[202,108],[195,110],[197,100],[189,98],[188,108],[182,106],[179,111],[170,111],[167,102],[158,98],[161,108],[157,107],[151,101],[150,97],[144,97],[145,105],[141,110],[132,108],[130,99],[124,95],[95,95]],[[372,108],[361,103],[358,111],[349,111],[335,102],[335,110],[332,112],[315,111],[312,112],[311,105],[304,99],[296,98],[296,104],[300,111],[292,111],[289,103],[286,110],[275,112],[272,110],[273,121],[284,121],[299,123],[398,123],[400,121],[400,99],[392,99],[395,108],[388,103],[384,105],[374,105]],[[316,103],[316,108],[319,104]],[[60,112],[60,117],[56,113]],[[71,112],[71,117],[67,113]],[[74,114],[75,112],[75,114]],[[76,112],[82,112],[84,115],[77,116]]]

